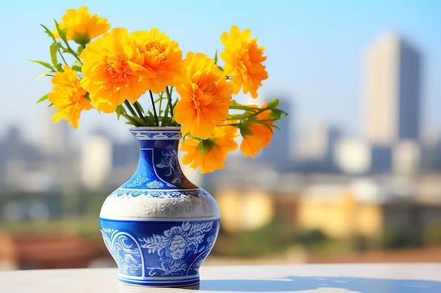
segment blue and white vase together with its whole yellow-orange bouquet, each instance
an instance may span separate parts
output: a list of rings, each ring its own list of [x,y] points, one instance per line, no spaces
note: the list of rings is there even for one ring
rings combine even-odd
[[[222,169],[227,153],[237,149],[254,157],[273,136],[275,120],[287,115],[278,100],[243,105],[241,91],[257,98],[268,78],[263,47],[249,30],[224,32],[225,50],[209,58],[188,52],[157,28],[110,30],[107,20],[87,7],[70,9],[55,21],[51,62],[35,60],[48,71],[53,122],[77,128],[83,110],[115,113],[135,126],[141,143],[132,178],[104,201],[101,235],[130,285],[184,286],[199,282],[199,266],[216,241],[220,211],[213,197],[182,174],[182,163],[202,173]],[[74,48],[75,44],[75,48]]]

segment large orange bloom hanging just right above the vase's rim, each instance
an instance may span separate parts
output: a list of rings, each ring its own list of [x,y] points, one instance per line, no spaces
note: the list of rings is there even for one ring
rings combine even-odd
[[[232,104],[232,86],[225,74],[202,53],[187,53],[181,73],[175,79],[180,100],[175,107],[175,120],[182,124],[182,134],[207,139],[214,127],[223,124]]]

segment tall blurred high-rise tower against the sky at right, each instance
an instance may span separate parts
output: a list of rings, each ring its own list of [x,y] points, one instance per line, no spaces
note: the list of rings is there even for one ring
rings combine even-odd
[[[418,141],[421,126],[421,57],[392,33],[366,53],[365,135],[373,145]]]

